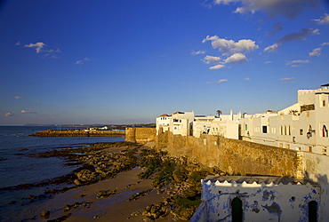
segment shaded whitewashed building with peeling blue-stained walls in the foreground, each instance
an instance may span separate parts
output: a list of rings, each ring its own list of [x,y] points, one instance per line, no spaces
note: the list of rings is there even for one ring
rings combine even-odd
[[[306,179],[214,177],[190,221],[321,221],[321,187]]]

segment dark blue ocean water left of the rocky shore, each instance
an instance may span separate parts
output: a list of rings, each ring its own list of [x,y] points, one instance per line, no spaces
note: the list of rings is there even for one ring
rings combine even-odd
[[[20,184],[36,184],[60,177],[78,166],[66,165],[64,158],[28,156],[50,151],[55,147],[81,147],[89,143],[118,142],[118,137],[29,137],[37,131],[56,129],[49,126],[0,126],[0,189]],[[61,128],[61,129],[69,129]],[[75,128],[76,129],[76,128]],[[26,208],[36,204],[30,194],[44,194],[45,190],[66,186],[50,185],[20,190],[0,190],[0,221],[21,221],[28,217]],[[25,215],[26,214],[26,215]],[[20,217],[18,217],[20,215]]]

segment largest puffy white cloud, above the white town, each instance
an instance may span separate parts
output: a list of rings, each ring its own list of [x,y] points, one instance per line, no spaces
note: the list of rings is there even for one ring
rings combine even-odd
[[[234,54],[237,52],[253,52],[259,46],[251,39],[241,39],[237,42],[234,40],[227,40],[219,36],[206,36],[202,43],[211,41],[213,49],[219,49],[224,55]]]

